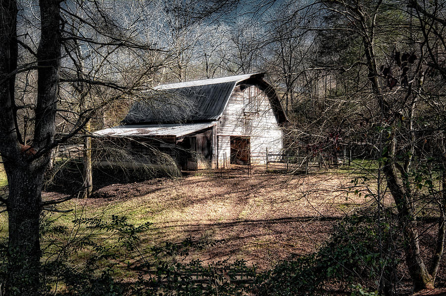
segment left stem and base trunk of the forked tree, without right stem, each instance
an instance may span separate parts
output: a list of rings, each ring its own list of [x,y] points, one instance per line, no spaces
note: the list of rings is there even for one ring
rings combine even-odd
[[[40,244],[39,218],[43,170],[30,161],[34,148],[20,143],[15,116],[15,75],[17,36],[15,1],[0,2],[0,152],[8,177],[7,277],[5,295],[39,295]],[[57,16],[58,17],[58,16]],[[4,79],[4,80],[3,80]],[[22,151],[22,152],[21,152]],[[48,160],[48,159],[47,159]]]

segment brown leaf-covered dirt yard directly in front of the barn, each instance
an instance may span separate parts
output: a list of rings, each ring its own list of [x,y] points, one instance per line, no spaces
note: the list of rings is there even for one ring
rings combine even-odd
[[[354,195],[345,172],[305,177],[245,169],[203,171],[180,179],[160,178],[98,189],[94,198],[74,199],[66,207],[84,215],[128,216],[135,224],[153,223],[145,243],[218,242],[191,256],[204,262],[244,259],[260,270],[291,254],[316,250],[345,214],[371,204]],[[361,190],[359,190],[361,192]],[[54,194],[46,193],[46,198]]]

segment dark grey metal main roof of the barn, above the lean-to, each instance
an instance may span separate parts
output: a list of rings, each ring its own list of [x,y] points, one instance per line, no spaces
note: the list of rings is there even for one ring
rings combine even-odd
[[[173,123],[217,120],[235,85],[264,73],[162,85],[153,99],[132,105],[123,124]]]

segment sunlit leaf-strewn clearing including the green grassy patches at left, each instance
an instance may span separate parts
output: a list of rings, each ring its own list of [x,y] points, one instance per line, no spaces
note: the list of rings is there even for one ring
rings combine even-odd
[[[74,198],[57,205],[58,209],[72,210],[69,213],[45,212],[50,227],[64,230],[44,236],[42,247],[52,246],[46,249],[51,256],[60,247],[86,237],[104,247],[119,245],[116,234],[93,232],[85,222],[92,218],[110,221],[111,215],[117,215],[126,216],[136,226],[152,223],[141,233],[135,249],[119,248],[118,255],[130,265],[150,258],[150,247],[190,238],[205,247],[184,260],[199,258],[211,263],[244,259],[265,270],[291,254],[317,250],[342,217],[359,208],[374,207],[375,168],[376,164],[362,161],[307,176],[266,173],[261,168],[248,177],[245,169],[236,169],[110,184],[98,189],[93,198]],[[360,176],[367,176],[367,180],[363,182]],[[47,192],[43,197],[48,200],[64,195]],[[389,196],[385,203],[392,204]],[[0,219],[4,238],[5,213]],[[89,251],[73,252],[70,260],[82,264]],[[120,277],[131,280],[132,273],[125,268],[120,272]]]

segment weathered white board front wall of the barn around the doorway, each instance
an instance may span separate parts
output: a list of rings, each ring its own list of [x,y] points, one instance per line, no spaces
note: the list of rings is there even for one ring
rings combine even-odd
[[[223,111],[219,126],[219,163],[230,155],[230,136],[251,139],[251,162],[265,163],[266,150],[279,153],[282,149],[282,130],[267,95],[257,86],[241,89],[237,86]]]

